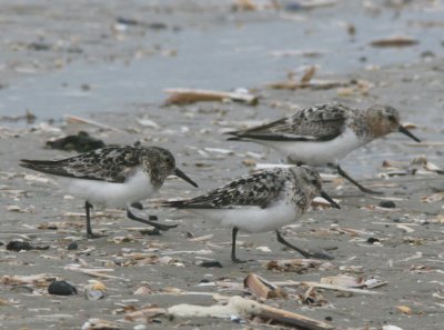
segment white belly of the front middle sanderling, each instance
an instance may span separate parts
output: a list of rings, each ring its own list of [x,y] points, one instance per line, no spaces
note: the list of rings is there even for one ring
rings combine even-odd
[[[302,212],[292,203],[279,202],[266,209],[260,207],[234,207],[232,209],[191,210],[205,219],[220,221],[223,227],[238,227],[244,232],[265,232],[276,230],[294,222]]]

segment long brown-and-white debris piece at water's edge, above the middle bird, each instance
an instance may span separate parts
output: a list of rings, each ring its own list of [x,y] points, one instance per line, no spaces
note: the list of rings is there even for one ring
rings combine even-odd
[[[230,100],[256,106],[259,102],[259,97],[249,92],[221,92],[185,88],[165,89],[164,92],[171,94],[165,101],[167,104],[190,104],[205,101],[223,102]]]

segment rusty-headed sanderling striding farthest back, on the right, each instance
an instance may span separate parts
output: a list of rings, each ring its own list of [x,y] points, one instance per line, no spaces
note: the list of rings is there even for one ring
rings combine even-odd
[[[339,160],[394,131],[420,142],[400,123],[400,114],[390,106],[374,104],[360,111],[332,102],[299,110],[269,124],[229,132],[234,136],[229,140],[253,141],[273,148],[290,163],[334,167],[362,191],[379,193],[353,180],[342,170]]]

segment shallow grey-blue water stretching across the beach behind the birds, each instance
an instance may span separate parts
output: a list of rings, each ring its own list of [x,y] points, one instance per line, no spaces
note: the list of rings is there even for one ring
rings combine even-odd
[[[161,31],[138,41],[141,47],[159,42],[175,49],[178,54],[173,57],[157,54],[130,62],[118,59],[93,64],[80,60],[60,71],[12,81],[0,90],[0,116],[28,109],[39,120],[58,120],[65,113],[127,111],[130,103],[159,104],[165,98],[165,88],[262,87],[285,79],[289,70],[302,66],[316,64],[322,76],[350,73],[366,66],[415,62],[424,51],[442,56],[442,29],[424,29],[415,23],[440,21],[442,16],[442,6],[384,9],[374,14],[353,1],[313,11],[229,13],[204,28]],[[345,23],[355,26],[354,37],[347,34]],[[393,34],[407,34],[420,43],[386,49],[369,44]],[[285,50],[313,50],[320,54],[272,54]],[[82,90],[82,84],[91,89]]]

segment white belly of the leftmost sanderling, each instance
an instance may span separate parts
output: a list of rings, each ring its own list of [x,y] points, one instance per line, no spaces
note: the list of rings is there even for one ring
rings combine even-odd
[[[113,208],[123,208],[128,203],[143,200],[157,190],[142,170],[138,170],[124,183],[83,179],[68,180],[65,187],[69,193],[81,197],[92,204]]]

